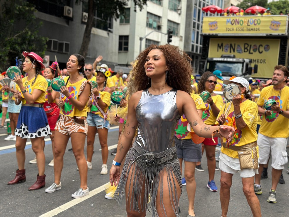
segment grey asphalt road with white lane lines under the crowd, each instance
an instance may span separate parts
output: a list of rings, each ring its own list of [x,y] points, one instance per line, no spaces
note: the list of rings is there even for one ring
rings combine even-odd
[[[37,165],[30,164],[29,160],[35,157],[31,145],[26,145],[26,182],[17,185],[7,185],[12,180],[17,169],[14,141],[4,141],[4,130],[0,131],[0,216],[1,217],[19,217],[19,216],[126,216],[125,204],[118,205],[116,201],[105,199],[104,185],[109,181],[108,175],[100,175],[102,160],[99,150],[100,144],[98,136],[95,136],[95,154],[93,156],[93,169],[88,171],[88,187],[90,194],[83,198],[71,198],[71,194],[79,188],[80,178],[77,171],[77,165],[73,153],[68,151],[71,148],[69,141],[64,156],[64,167],[61,177],[62,189],[54,193],[45,193],[45,188],[37,191],[28,191],[37,176]],[[113,149],[117,143],[118,129],[109,131],[108,146]],[[47,137],[48,138],[48,137]],[[54,180],[53,167],[48,163],[53,158],[51,142],[46,141],[46,187],[50,186]],[[28,140],[29,141],[29,140]],[[289,151],[289,150],[287,150]],[[85,147],[86,152],[86,147]],[[110,151],[111,152],[111,151]],[[109,154],[108,165],[112,163],[114,156]],[[202,166],[204,172],[196,171],[196,199],[195,213],[198,217],[217,217],[221,216],[221,206],[219,191],[211,192],[206,187],[208,182],[208,171],[206,168],[206,156],[203,156]],[[271,186],[271,169],[269,167],[269,178],[262,180],[263,194],[258,195],[261,203],[262,216],[265,217],[285,217],[288,216],[289,202],[289,175],[286,170],[283,171],[285,185],[278,185],[277,203],[266,202],[268,192]],[[220,187],[220,171],[216,171],[215,182]],[[124,201],[125,202],[125,201]],[[186,186],[183,187],[183,194],[179,205],[181,216],[187,216],[188,199]],[[151,213],[147,212],[147,216]],[[231,187],[231,198],[229,204],[228,216],[248,217],[252,216],[250,207],[242,191],[242,182],[238,174],[233,176],[233,185]]]

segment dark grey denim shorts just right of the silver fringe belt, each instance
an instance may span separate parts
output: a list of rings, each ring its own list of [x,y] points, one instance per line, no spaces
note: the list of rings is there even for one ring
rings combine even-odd
[[[198,162],[202,159],[202,146],[191,139],[178,139],[175,137],[178,158],[184,161]]]

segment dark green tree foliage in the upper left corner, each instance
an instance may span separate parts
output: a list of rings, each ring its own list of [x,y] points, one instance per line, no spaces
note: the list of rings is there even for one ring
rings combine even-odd
[[[0,71],[15,66],[15,58],[23,51],[44,56],[47,38],[38,35],[42,23],[36,22],[36,9],[25,0],[3,3],[0,17]]]

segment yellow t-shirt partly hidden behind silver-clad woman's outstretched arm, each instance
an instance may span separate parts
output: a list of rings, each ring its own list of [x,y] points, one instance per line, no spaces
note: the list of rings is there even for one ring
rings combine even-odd
[[[206,109],[206,106],[205,106],[204,101],[202,100],[201,96],[192,93],[191,97],[194,99],[197,109],[202,109],[203,111]],[[175,136],[178,139],[191,139],[192,138],[191,133],[187,130],[188,124],[189,123],[188,123],[185,115],[183,115],[179,119],[179,122],[176,126],[176,129],[175,129]]]

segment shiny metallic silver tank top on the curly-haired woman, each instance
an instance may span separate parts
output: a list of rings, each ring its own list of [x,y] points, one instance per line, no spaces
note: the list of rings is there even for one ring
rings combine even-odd
[[[136,107],[138,124],[135,143],[153,153],[175,146],[174,131],[181,116],[176,103],[177,89],[152,95],[142,92]]]

